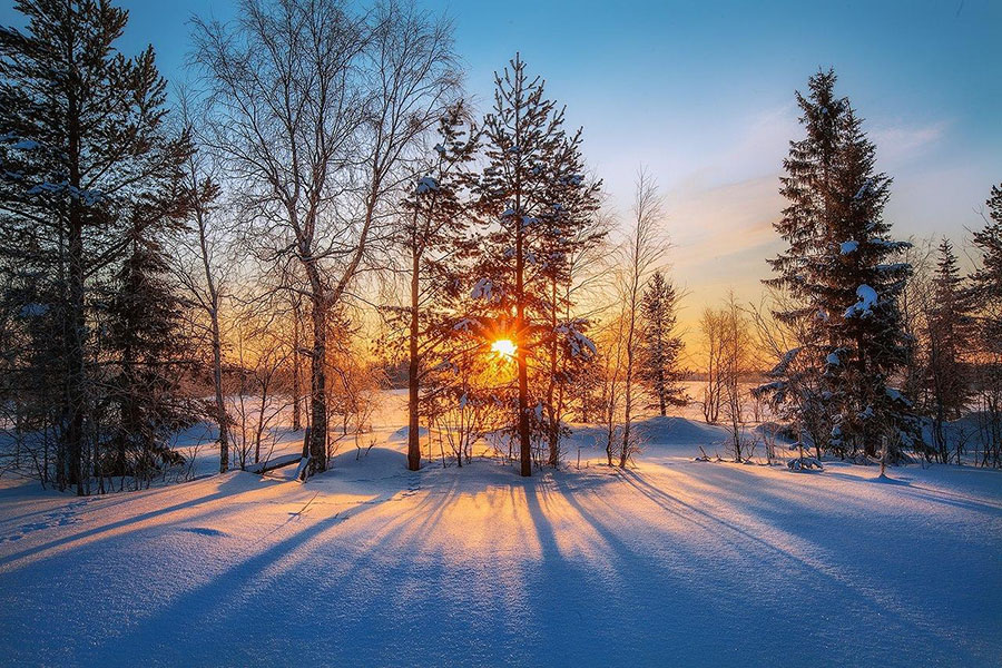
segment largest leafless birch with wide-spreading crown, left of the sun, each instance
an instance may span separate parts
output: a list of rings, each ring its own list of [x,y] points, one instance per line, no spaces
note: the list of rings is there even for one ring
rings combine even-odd
[[[244,0],[196,21],[210,144],[240,190],[255,254],[297,265],[312,332],[308,472],[327,468],[327,332],[389,234],[416,140],[456,86],[446,23],[411,4]]]

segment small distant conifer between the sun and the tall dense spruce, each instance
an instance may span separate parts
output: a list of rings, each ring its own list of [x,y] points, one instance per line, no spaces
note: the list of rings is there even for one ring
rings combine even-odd
[[[655,272],[640,304],[642,341],[640,348],[640,380],[657,400],[650,407],[667,415],[668,406],[684,406],[687,403],[681,386],[679,355],[681,337],[676,333],[678,320],[678,292],[670,279]]]

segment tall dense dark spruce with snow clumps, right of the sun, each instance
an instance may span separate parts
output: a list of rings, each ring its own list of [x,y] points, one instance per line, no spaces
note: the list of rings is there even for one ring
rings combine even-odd
[[[784,161],[790,204],[775,227],[788,247],[769,261],[777,276],[766,284],[793,297],[775,316],[803,336],[766,390],[794,402],[818,451],[875,455],[887,438],[896,455],[916,438],[911,403],[887,384],[906,352],[897,296],[911,272],[891,259],[908,244],[890,238],[891,179],[875,173],[876,149],[835,80],[818,72],[808,96],[797,94],[807,136]]]

